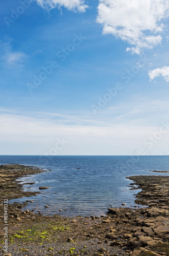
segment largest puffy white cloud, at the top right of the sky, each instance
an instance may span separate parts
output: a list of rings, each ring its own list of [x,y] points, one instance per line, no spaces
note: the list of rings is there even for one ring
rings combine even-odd
[[[168,17],[169,0],[100,0],[97,22],[104,34],[129,42],[127,51],[137,54],[160,44],[161,20]]]

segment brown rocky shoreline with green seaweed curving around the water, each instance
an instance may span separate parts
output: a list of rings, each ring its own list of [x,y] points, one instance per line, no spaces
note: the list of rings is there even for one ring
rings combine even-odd
[[[44,170],[0,166],[1,255],[169,255],[169,176],[133,176],[130,189],[141,188],[135,202],[143,208],[109,208],[106,217],[52,217],[8,205],[8,254],[4,250],[4,199],[29,197],[16,179]]]

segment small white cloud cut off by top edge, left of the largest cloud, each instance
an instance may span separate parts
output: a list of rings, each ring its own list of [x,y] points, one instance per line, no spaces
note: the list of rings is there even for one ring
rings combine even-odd
[[[44,9],[53,9],[62,6],[72,11],[85,12],[87,5],[83,0],[36,0],[38,4]]]

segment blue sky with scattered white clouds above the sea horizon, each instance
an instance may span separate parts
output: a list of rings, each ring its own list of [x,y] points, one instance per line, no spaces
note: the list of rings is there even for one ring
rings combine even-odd
[[[1,155],[169,154],[168,0],[0,5]]]

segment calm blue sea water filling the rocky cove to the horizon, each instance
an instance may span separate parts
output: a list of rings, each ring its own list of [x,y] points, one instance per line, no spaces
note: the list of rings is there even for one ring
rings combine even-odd
[[[41,194],[30,198],[11,200],[24,202],[33,200],[26,209],[41,210],[44,215],[100,216],[109,207],[136,206],[130,190],[132,182],[126,177],[132,175],[168,175],[152,173],[150,170],[169,170],[169,156],[0,156],[0,164],[18,163],[51,169],[45,173],[20,178],[25,191],[39,191]],[[44,208],[48,205],[49,208]],[[137,205],[138,206],[138,205]],[[62,212],[59,212],[62,209]]]

